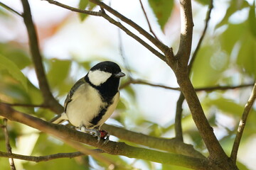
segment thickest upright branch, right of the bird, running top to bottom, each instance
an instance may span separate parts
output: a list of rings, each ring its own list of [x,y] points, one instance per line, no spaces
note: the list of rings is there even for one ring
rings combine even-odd
[[[191,80],[188,76],[188,60],[191,52],[191,42],[193,33],[193,17],[191,0],[180,0],[181,4],[181,40],[178,52],[174,58],[167,56],[167,64],[174,70],[180,89],[186,98],[192,118],[203,138],[210,154],[212,162],[229,162],[228,156],[220,146],[213,128],[210,127],[206,115],[203,112],[201,103],[196,95]],[[224,163],[224,164],[225,164]],[[230,164],[233,169],[238,169],[234,164]],[[224,165],[221,168],[225,168]],[[225,168],[226,169],[226,168]]]

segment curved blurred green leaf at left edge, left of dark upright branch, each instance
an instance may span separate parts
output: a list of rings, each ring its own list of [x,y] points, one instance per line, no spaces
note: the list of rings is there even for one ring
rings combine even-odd
[[[9,74],[11,74],[14,79],[18,80],[21,82],[22,86],[28,90],[28,84],[27,84],[27,79],[23,75],[20,69],[18,69],[17,65],[14,64],[11,60],[8,58],[4,57],[3,55],[0,55],[0,69],[6,69]]]

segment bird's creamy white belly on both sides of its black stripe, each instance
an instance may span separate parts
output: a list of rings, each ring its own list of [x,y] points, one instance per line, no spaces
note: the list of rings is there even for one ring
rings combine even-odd
[[[113,103],[108,107],[105,115],[102,116],[102,119],[95,126],[101,126],[110,118],[110,115],[112,115],[117,107],[118,100],[119,92],[114,96]],[[82,84],[73,94],[72,101],[68,103],[66,114],[70,123],[75,127],[80,128],[81,125],[85,125],[85,128],[94,128],[90,121],[97,116],[101,108],[106,106],[107,103],[102,102],[96,89]]]

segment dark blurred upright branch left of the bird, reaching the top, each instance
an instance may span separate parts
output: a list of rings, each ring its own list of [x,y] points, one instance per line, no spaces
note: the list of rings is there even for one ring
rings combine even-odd
[[[31,16],[31,8],[28,4],[28,0],[21,0],[23,5],[23,19],[26,25],[26,29],[28,31],[28,40],[31,50],[31,56],[33,60],[33,64],[36,69],[36,76],[38,78],[39,88],[41,93],[43,94],[44,104],[50,106],[50,108],[55,111],[56,113],[62,113],[63,107],[55,100],[53,94],[50,92],[50,87],[48,85],[48,81],[46,79],[46,73],[43,69],[43,57],[41,56],[39,45],[38,45],[38,38],[36,35],[36,28],[33,25],[33,20]]]

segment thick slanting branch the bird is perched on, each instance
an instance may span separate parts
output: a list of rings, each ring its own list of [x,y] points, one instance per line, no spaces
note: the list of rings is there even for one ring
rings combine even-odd
[[[20,113],[3,103],[0,103],[0,115],[8,118],[9,120],[23,123],[25,125],[31,126],[32,128],[36,128],[50,135],[59,137],[61,140],[63,140],[65,137],[68,137],[68,140],[70,141],[78,141],[87,145],[98,147],[108,154],[123,155],[137,159],[146,159],[162,164],[174,164],[177,166],[185,166],[191,169],[206,169],[208,167],[207,159],[199,159],[180,154],[170,154],[166,152],[154,151],[151,149],[132,147],[124,144],[123,142],[110,141],[107,142],[106,145],[102,145],[102,140],[100,143],[97,143],[97,139],[92,137],[92,135],[72,130],[63,125],[48,123],[31,115]]]

